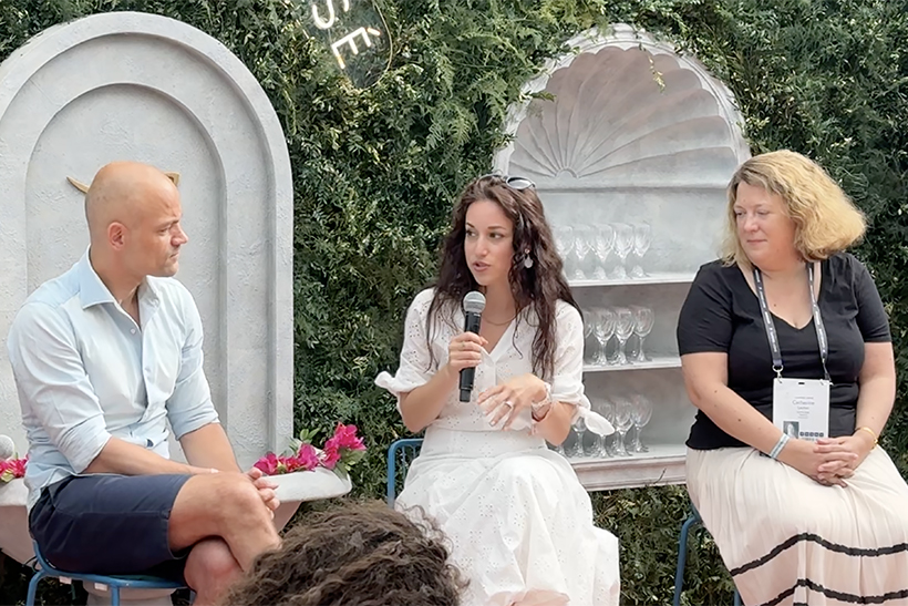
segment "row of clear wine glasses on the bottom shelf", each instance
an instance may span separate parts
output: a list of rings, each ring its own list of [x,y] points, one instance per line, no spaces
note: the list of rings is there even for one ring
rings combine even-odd
[[[558,446],[556,450],[569,459],[596,458],[609,459],[613,456],[633,456],[638,453],[649,452],[649,449],[640,441],[640,434],[647,423],[652,418],[652,401],[640,393],[630,396],[611,396],[609,398],[596,398],[590,400],[594,412],[601,414],[615,427],[611,435],[598,435],[592,433],[592,443],[587,445],[584,438],[587,433],[586,422],[582,417],[574,423],[571,435],[565,441],[567,446]],[[633,439],[627,442],[629,432],[633,430]]]

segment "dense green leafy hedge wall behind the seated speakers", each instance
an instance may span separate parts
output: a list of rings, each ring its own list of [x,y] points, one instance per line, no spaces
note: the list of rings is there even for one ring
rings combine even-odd
[[[362,2],[365,0],[353,0]],[[733,91],[754,153],[819,161],[867,213],[858,255],[892,322],[899,399],[883,439],[908,470],[908,2],[905,0],[374,0],[394,41],[388,73],[359,90],[310,39],[302,0],[0,0],[0,60],[41,30],[141,10],[220,40],[252,71],[283,125],[296,191],[296,423],[337,420],[365,434],[357,492],[381,496],[386,446],[405,434],[372,384],[396,368],[402,316],[433,276],[458,189],[487,172],[520,85],[564,41],[626,22],[693,53]],[[175,74],[178,78],[179,74]],[[598,523],[621,540],[625,604],[671,600],[687,516],[682,487],[597,493]],[[731,603],[708,535],[685,576],[687,604]],[[0,604],[28,573],[0,558]],[[69,590],[44,592],[47,603]]]

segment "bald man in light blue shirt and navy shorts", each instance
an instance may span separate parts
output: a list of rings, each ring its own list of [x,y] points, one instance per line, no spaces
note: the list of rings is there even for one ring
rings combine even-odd
[[[8,349],[29,438],[29,526],[64,571],[185,579],[215,604],[279,545],[274,485],[241,473],[202,367],[202,321],[173,276],[179,193],[117,162],[85,196],[91,244],[19,310]],[[188,464],[171,461],[171,422]]]

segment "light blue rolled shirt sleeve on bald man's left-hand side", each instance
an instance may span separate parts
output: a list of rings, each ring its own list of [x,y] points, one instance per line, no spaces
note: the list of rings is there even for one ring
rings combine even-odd
[[[7,340],[20,402],[48,438],[82,473],[111,439],[101,403],[85,372],[75,333],[59,309],[22,307]]]

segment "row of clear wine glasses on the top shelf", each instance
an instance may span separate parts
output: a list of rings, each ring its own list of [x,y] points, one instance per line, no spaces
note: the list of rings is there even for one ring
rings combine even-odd
[[[652,244],[652,228],[648,223],[560,225],[553,232],[568,279],[626,280],[647,276],[640,264]],[[612,253],[618,263],[609,270]],[[631,255],[636,263],[628,270]]]

